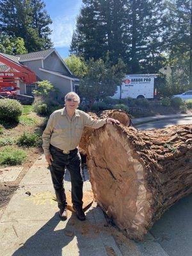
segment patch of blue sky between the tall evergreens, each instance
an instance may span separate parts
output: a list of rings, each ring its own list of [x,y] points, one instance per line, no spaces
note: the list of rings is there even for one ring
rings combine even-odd
[[[82,0],[44,0],[44,3],[46,4],[45,9],[52,19],[51,40],[61,57],[67,57]]]

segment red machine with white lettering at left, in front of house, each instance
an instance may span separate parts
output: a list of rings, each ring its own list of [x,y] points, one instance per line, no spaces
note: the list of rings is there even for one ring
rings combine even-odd
[[[2,70],[2,71],[1,71]],[[36,83],[36,74],[30,68],[21,65],[0,53],[0,93],[17,94],[17,81],[26,84]]]

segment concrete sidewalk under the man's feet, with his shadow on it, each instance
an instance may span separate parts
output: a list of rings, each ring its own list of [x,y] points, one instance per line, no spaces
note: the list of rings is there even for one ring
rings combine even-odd
[[[91,189],[84,170],[84,191]],[[65,175],[65,190],[70,177]],[[51,175],[42,155],[29,169],[0,220],[0,252],[4,256],[167,256],[151,234],[135,243],[109,227],[100,207],[93,202],[86,221],[68,211],[60,221]],[[115,240],[116,239],[116,240]],[[118,241],[118,245],[116,244]]]

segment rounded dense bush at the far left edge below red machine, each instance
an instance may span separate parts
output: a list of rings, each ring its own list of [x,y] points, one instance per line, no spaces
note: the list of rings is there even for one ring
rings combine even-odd
[[[18,121],[22,114],[22,105],[17,100],[2,99],[0,100],[0,119],[4,121]]]

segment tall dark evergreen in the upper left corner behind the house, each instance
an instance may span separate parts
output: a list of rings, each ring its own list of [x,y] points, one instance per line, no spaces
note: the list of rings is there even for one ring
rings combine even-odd
[[[48,38],[51,33],[48,24],[51,20],[44,12],[44,5],[40,7],[36,5],[32,3],[32,0],[0,0],[0,30],[5,35],[23,38],[29,52],[51,46]]]

